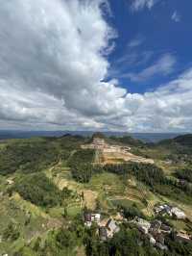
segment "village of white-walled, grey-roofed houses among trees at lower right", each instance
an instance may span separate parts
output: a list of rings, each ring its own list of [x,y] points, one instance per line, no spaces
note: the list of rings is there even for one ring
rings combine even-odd
[[[152,246],[160,250],[168,250],[166,245],[166,236],[173,233],[176,241],[190,243],[192,236],[184,230],[176,230],[166,221],[160,220],[159,217],[174,218],[176,220],[187,221],[187,217],[178,207],[167,204],[156,205],[154,208],[156,217],[152,220],[139,218],[135,216],[132,220],[124,217],[123,212],[117,213],[115,217],[104,218],[100,213],[84,212],[84,225],[91,227],[93,223],[97,225],[97,233],[100,241],[105,242],[111,239],[120,231],[122,223],[130,223],[140,232],[143,239],[147,239]]]

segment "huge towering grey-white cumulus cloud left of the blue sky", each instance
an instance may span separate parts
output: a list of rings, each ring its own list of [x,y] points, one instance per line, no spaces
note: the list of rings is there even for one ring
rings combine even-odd
[[[109,106],[113,96],[119,97],[125,91],[100,82],[108,69],[103,54],[111,49],[110,38],[116,37],[103,17],[101,5],[105,3],[101,0],[2,3],[1,90],[12,89],[16,99],[23,91],[26,97],[41,92],[60,100],[62,109],[76,115],[112,112],[116,108],[115,104]],[[18,104],[21,110],[11,106],[19,112],[15,118],[27,115],[22,104]]]

